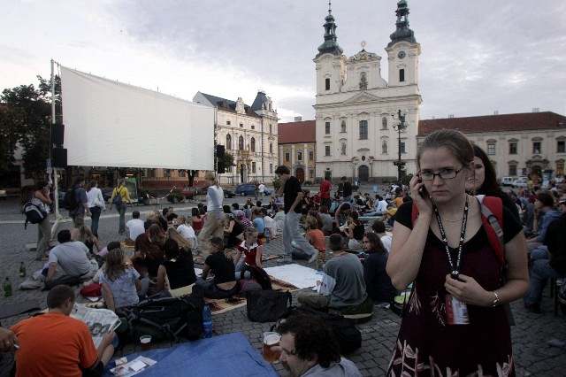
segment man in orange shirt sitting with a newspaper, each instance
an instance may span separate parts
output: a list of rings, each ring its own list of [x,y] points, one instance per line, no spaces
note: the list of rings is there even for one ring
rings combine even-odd
[[[100,376],[110,361],[114,333],[104,335],[98,350],[85,323],[69,317],[74,291],[58,285],[47,296],[49,312],[11,327],[18,338],[16,376]],[[83,374],[84,373],[84,374]]]

